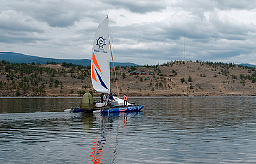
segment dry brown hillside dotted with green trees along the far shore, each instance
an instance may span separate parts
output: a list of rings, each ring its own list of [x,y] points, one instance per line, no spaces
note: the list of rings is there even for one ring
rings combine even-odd
[[[139,74],[130,75],[131,71]],[[116,67],[116,74],[121,95],[128,97],[256,95],[256,68],[231,63],[171,61]],[[111,69],[111,88],[116,92],[114,79]],[[93,93],[90,67],[0,62],[1,97],[78,97],[85,92]]]

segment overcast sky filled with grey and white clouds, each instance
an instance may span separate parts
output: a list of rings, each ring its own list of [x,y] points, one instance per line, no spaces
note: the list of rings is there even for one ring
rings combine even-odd
[[[256,64],[255,0],[0,0],[0,52],[90,59],[106,15],[116,62]]]

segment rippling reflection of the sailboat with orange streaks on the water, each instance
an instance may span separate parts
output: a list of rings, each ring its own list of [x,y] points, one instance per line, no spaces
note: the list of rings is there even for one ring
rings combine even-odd
[[[86,158],[93,164],[116,163],[120,136],[124,135],[129,127],[129,115],[143,115],[143,112],[109,113],[109,115],[85,114],[82,115],[86,137],[90,139],[91,150]]]

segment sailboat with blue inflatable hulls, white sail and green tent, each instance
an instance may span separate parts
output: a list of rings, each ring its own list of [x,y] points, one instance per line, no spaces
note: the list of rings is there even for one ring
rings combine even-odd
[[[93,88],[96,92],[101,94],[110,94],[110,55],[113,60],[111,45],[109,42],[109,18],[107,16],[99,24],[95,33],[91,60],[91,81]],[[112,61],[112,63],[115,72],[114,61]],[[117,80],[116,86],[118,89]],[[93,101],[93,96],[90,93],[85,93],[82,99],[82,105],[79,108],[72,108],[71,112],[132,112],[140,111],[142,108],[144,108],[144,105],[140,104],[127,103],[127,105],[124,106],[124,100],[114,96],[113,101],[109,104],[95,102]]]

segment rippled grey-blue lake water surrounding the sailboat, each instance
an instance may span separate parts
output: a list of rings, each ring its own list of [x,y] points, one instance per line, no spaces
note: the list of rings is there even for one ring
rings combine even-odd
[[[0,98],[1,164],[255,164],[256,97],[140,97],[143,112],[62,112],[79,98]]]

